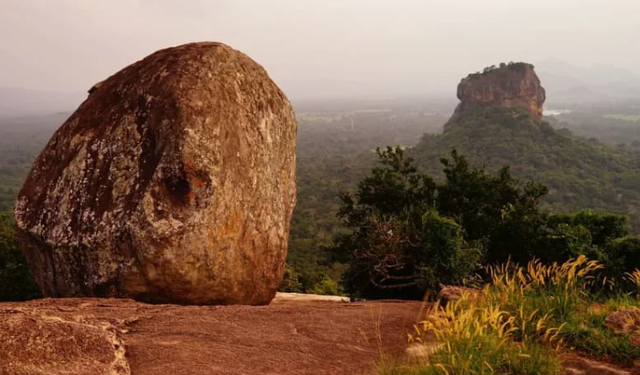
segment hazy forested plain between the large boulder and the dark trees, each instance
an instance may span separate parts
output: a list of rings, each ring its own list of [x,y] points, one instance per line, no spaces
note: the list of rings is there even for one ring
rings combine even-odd
[[[339,193],[352,189],[374,166],[372,149],[384,144],[413,145],[445,118],[390,109],[306,112],[298,113],[298,119],[298,203],[291,220],[287,263],[298,274],[301,291],[317,292],[326,278],[338,282],[344,268],[326,250],[336,235],[347,232],[336,216]]]

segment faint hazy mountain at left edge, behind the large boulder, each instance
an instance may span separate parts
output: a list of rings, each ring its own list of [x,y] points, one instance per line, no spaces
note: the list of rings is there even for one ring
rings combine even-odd
[[[82,92],[0,87],[0,117],[38,116],[71,111],[87,97]]]

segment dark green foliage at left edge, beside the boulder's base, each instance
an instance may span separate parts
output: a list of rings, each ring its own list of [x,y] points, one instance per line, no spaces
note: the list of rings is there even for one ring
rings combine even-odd
[[[9,214],[0,212],[0,301],[24,301],[40,297],[24,254],[15,239]]]

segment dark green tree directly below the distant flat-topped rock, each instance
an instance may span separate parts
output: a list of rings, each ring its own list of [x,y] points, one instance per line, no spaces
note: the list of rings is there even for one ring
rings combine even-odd
[[[547,188],[533,182],[521,186],[508,167],[496,175],[473,168],[455,149],[441,163],[446,180],[438,187],[440,214],[455,219],[467,241],[485,248],[489,262],[505,261],[514,253],[528,257],[522,245],[535,235],[532,224],[539,224],[538,205]]]

